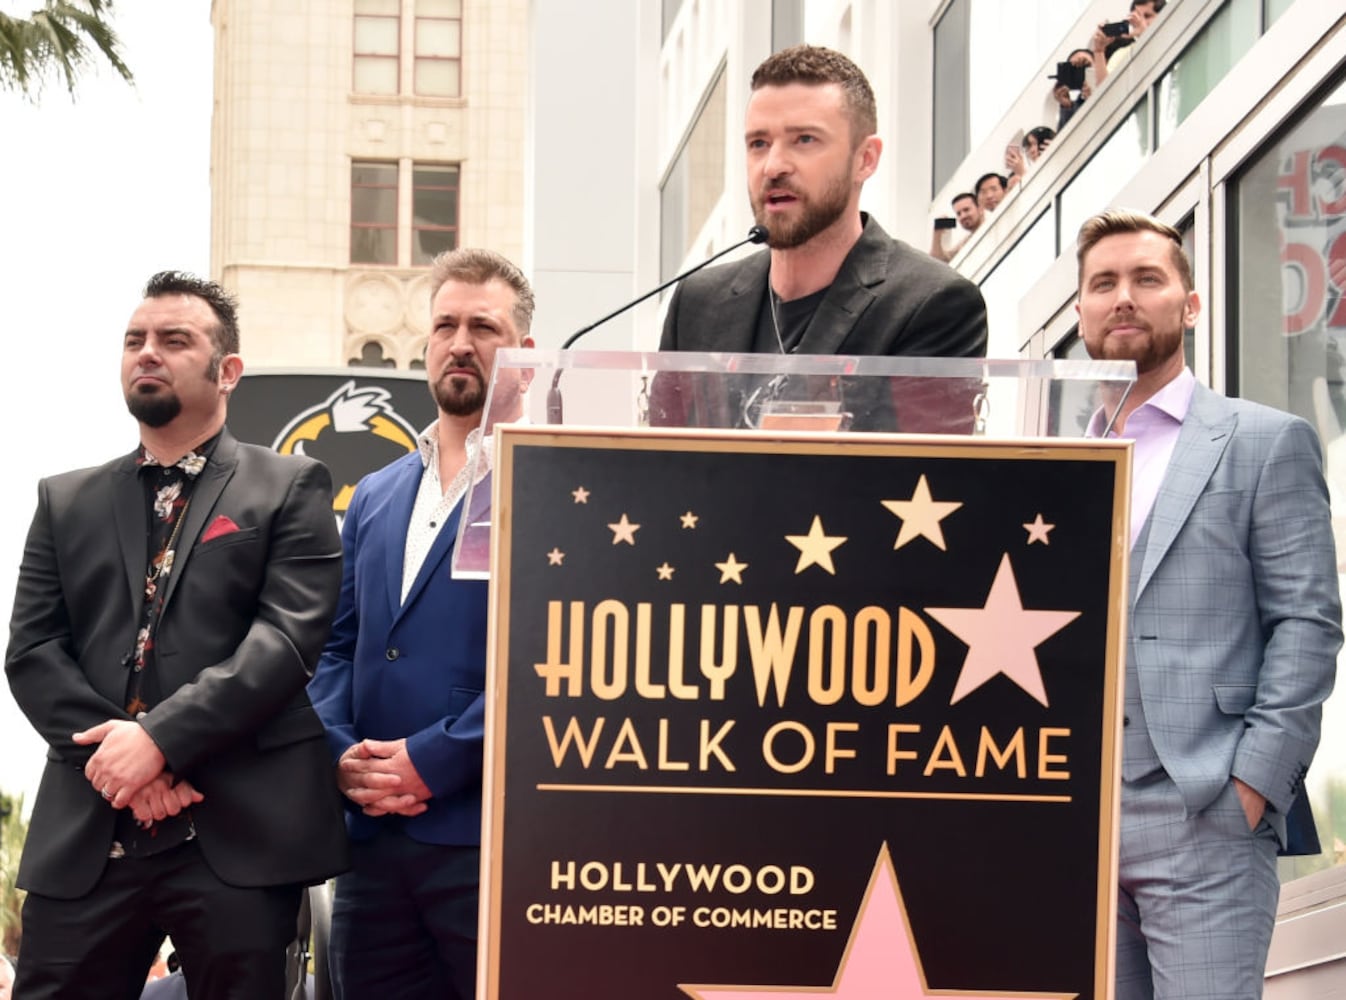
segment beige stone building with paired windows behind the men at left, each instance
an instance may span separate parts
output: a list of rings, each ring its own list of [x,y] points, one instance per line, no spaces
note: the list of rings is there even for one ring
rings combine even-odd
[[[214,0],[211,23],[211,273],[249,362],[419,366],[429,258],[522,258],[528,0]]]

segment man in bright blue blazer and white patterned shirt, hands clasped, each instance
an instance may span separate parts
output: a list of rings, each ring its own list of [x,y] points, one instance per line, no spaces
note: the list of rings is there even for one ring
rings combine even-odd
[[[439,416],[355,490],[310,684],[353,841],[332,903],[338,1000],[475,995],[487,585],[450,561],[495,351],[532,346],[533,293],[499,254],[460,249],[435,260],[431,303]]]

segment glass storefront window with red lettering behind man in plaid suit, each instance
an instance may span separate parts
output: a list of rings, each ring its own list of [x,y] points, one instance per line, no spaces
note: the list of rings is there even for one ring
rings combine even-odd
[[[1338,572],[1346,571],[1346,85],[1265,148],[1236,182],[1238,394],[1298,413],[1319,433]],[[1324,853],[1298,878],[1346,863],[1346,689],[1323,709],[1308,774]]]

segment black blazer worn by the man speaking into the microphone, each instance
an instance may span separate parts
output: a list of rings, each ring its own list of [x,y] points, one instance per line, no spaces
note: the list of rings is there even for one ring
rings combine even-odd
[[[800,341],[798,354],[981,358],[981,291],[927,253],[892,240],[861,213],[864,230]],[[707,268],[673,292],[660,350],[752,350],[770,252]]]

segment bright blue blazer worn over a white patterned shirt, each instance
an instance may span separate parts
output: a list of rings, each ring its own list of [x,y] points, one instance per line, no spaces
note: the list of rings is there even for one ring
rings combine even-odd
[[[413,817],[369,817],[347,802],[351,837],[396,825],[427,844],[479,844],[487,583],[450,576],[459,502],[401,602],[423,472],[412,452],[355,487],[342,528],[336,619],[308,696],[334,760],[362,739],[405,738],[432,793],[427,812]]]

